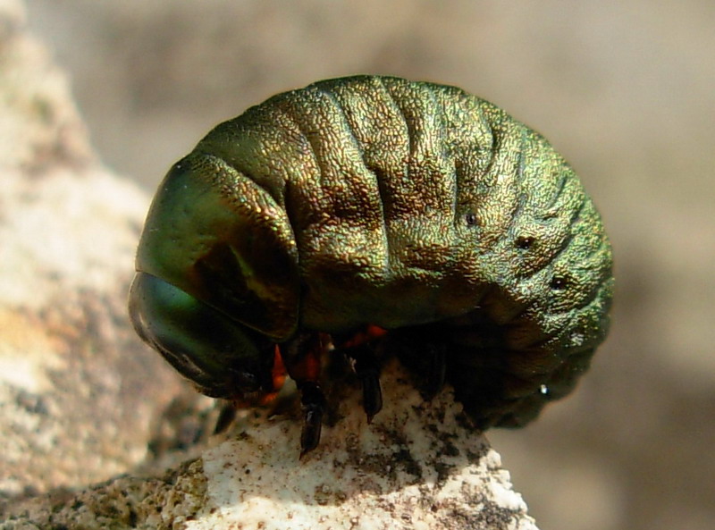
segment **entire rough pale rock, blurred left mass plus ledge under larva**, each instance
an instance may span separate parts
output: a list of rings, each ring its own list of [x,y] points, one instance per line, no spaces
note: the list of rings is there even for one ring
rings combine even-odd
[[[189,458],[214,411],[126,316],[148,198],[98,164],[23,28],[0,0],[0,528],[534,528],[450,393],[425,402],[395,364],[373,425],[354,381],[330,389],[302,461],[290,393]]]

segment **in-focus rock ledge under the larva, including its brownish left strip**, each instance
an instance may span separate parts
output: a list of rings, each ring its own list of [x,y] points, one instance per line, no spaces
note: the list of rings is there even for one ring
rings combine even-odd
[[[369,426],[357,386],[333,390],[333,401],[342,398],[335,423],[303,459],[290,407],[270,418],[245,413],[226,442],[175,472],[16,503],[0,527],[536,528],[450,391],[423,400],[396,362],[383,389],[385,408]]]

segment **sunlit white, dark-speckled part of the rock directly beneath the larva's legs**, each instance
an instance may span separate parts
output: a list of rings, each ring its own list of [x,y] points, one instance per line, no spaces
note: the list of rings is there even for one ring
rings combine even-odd
[[[299,461],[299,422],[265,419],[203,455],[206,508],[195,530],[533,529],[526,504],[450,391],[426,402],[396,364],[366,425],[357,389],[341,420]]]

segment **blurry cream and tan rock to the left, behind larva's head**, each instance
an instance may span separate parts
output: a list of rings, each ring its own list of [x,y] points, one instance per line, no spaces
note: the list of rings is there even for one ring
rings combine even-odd
[[[164,457],[147,444],[185,388],[127,317],[147,193],[91,154],[24,18],[0,2],[0,505]]]

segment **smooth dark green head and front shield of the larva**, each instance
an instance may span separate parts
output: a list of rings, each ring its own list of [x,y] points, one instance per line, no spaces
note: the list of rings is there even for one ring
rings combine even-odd
[[[294,331],[297,260],[286,224],[262,190],[212,156],[187,156],[156,193],[131,321],[208,395],[257,391],[270,343]]]

